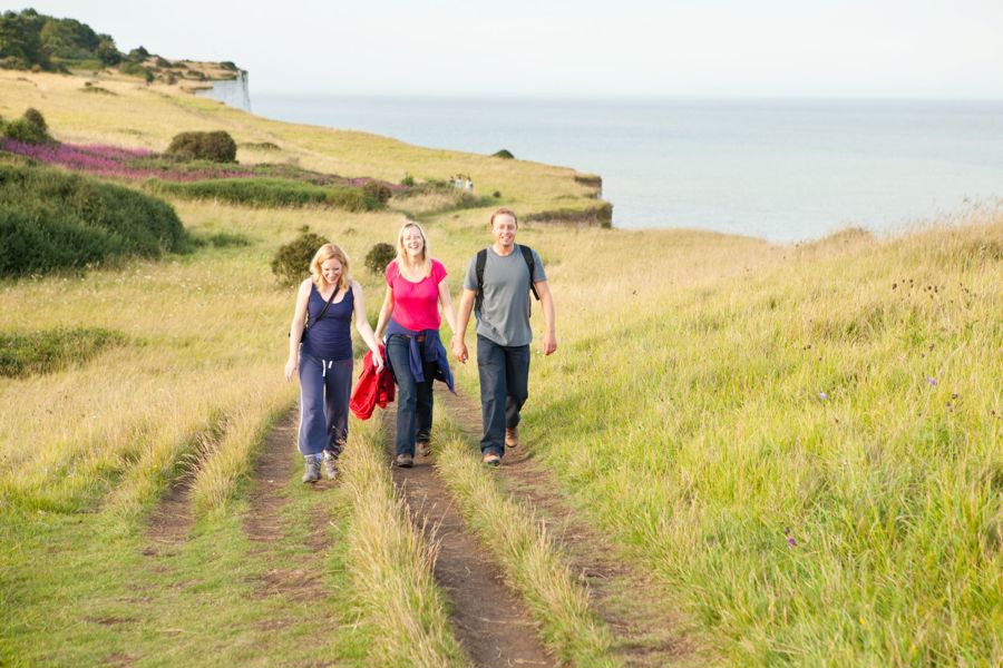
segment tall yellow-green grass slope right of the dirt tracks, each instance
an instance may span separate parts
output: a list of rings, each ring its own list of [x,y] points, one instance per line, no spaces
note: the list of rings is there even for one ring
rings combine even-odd
[[[952,223],[536,243],[523,433],[730,660],[1003,659],[1003,219]]]

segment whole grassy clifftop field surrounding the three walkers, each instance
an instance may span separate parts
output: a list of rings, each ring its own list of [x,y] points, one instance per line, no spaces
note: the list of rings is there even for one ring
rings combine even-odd
[[[155,149],[183,129],[226,129],[344,176],[464,171],[527,214],[594,203],[564,168],[100,85],[117,96],[0,71],[0,115],[35,106],[61,139]],[[289,482],[285,533],[270,552],[249,546],[241,518],[256,445],[295,401],[281,377],[293,295],[271,276],[271,255],[309,224],[354,259],[374,316],[381,279],[361,258],[392,242],[402,215],[392,199],[376,213],[174,205],[196,237],[247,245],[0,284],[4,334],[123,337],[64,369],[0,377],[0,662],[296,664],[313,656],[308,638],[335,662],[400,660],[407,648],[381,642],[393,631],[374,622],[389,595],[360,597],[393,581],[364,571],[360,554],[390,540],[377,566],[401,553],[420,566],[429,548],[406,530],[372,532],[399,513],[372,453],[360,450],[356,482],[331,494]],[[489,240],[486,209],[422,206],[456,295]],[[534,352],[524,440],[582,517],[654,574],[661,587],[645,593],[672,598],[714,661],[1003,664],[1003,210],[798,246],[543,224],[519,240],[546,263],[559,343],[551,357]],[[476,392],[475,364],[459,382]],[[452,466],[467,475],[461,458]],[[160,572],[142,556],[146,520],[186,471],[197,518]],[[308,602],[262,600],[249,584],[270,559],[309,552],[302,514],[320,507],[333,537],[320,556],[322,605],[337,628],[320,628]],[[429,630],[420,656],[462,662],[422,572],[401,576],[417,583],[408,598]],[[276,630],[276,619],[289,623]]]

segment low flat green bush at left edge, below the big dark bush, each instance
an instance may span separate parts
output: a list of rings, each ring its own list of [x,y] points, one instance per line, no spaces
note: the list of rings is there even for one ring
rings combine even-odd
[[[52,373],[127,341],[121,332],[101,328],[0,332],[0,376]]]

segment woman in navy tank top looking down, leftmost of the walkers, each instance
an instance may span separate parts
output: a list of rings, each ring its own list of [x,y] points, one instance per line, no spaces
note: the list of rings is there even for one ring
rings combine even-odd
[[[299,445],[306,466],[303,482],[320,480],[321,463],[328,478],[338,472],[338,455],[348,439],[353,315],[356,328],[372,351],[373,364],[377,370],[383,366],[366,316],[362,287],[349,274],[344,250],[334,244],[321,246],[310,262],[310,274],[296,294],[285,363],[285,380],[291,381],[298,371],[300,377]]]

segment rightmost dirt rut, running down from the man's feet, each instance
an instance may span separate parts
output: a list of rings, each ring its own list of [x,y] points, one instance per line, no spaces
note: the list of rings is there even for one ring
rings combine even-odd
[[[480,406],[476,400],[436,392],[471,446],[480,441]],[[526,436],[529,436],[528,439]],[[573,572],[588,586],[590,606],[614,636],[614,655],[626,666],[666,666],[698,660],[683,635],[682,617],[658,592],[653,579],[617,559],[620,549],[574,511],[555,490],[557,483],[533,458],[532,434],[520,434],[518,448],[505,452],[498,469],[507,490],[528,502],[546,522],[548,533],[568,558]]]

